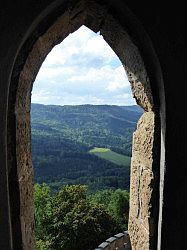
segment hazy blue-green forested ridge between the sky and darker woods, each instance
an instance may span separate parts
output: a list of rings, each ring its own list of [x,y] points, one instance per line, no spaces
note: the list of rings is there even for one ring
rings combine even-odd
[[[88,147],[131,154],[132,132],[142,114],[138,106],[32,104],[32,132],[60,136]]]

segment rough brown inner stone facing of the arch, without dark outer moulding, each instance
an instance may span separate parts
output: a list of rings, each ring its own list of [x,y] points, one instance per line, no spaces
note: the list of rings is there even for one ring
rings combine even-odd
[[[144,110],[134,135],[131,171],[131,206],[129,231],[134,249],[149,249],[150,217],[152,197],[151,183],[154,178],[152,164],[152,139],[154,128],[153,99],[149,78],[137,46],[124,28],[110,14],[110,7],[97,1],[69,1],[64,12],[58,16],[46,31],[41,34],[29,51],[19,76],[15,91],[16,103],[16,157],[20,190],[20,220],[23,249],[34,247],[34,204],[33,173],[30,138],[30,100],[32,84],[47,54],[51,49],[81,25],[93,31],[101,31],[106,42],[118,55],[127,71],[132,92]],[[115,35],[114,35],[115,34]],[[26,45],[25,45],[26,46]],[[17,81],[17,80],[15,80]],[[14,116],[14,113],[12,114]],[[152,119],[152,120],[151,120]]]

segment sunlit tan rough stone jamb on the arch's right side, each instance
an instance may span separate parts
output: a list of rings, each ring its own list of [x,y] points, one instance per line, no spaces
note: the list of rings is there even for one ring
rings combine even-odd
[[[133,135],[129,213],[129,234],[133,250],[150,249],[153,234],[150,214],[154,182],[154,124],[154,113],[145,112]]]

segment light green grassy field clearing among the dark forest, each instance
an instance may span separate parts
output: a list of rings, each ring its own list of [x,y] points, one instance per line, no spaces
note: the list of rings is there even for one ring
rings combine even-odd
[[[115,153],[108,148],[93,148],[89,152],[117,165],[130,165],[131,158],[129,156]]]

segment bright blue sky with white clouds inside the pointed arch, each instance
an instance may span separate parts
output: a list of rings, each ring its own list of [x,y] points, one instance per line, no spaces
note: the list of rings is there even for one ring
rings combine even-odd
[[[43,62],[32,103],[134,105],[125,70],[102,35],[82,26]]]

